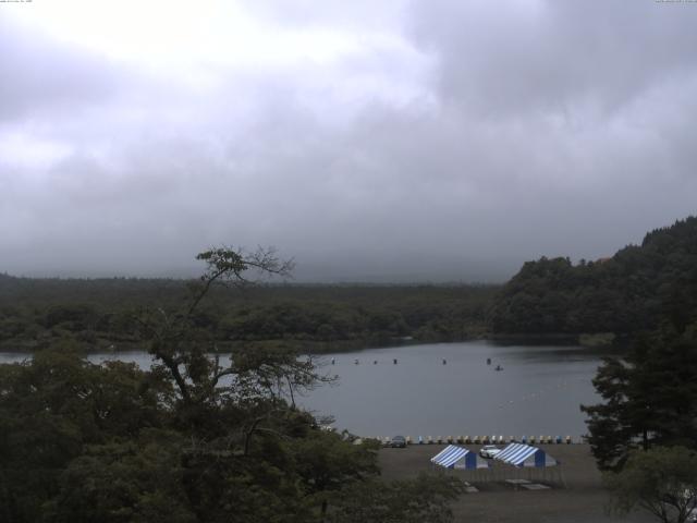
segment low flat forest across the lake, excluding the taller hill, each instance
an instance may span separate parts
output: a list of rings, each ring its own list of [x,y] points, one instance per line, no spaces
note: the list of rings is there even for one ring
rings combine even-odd
[[[191,282],[154,279],[0,279],[0,346],[34,349],[70,333],[91,346],[137,341],[133,311],[173,306]],[[496,287],[215,285],[196,313],[199,340],[283,341],[302,350],[360,348],[413,337],[481,336]]]

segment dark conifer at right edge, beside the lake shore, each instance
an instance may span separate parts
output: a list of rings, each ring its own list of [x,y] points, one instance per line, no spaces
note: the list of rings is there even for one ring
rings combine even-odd
[[[697,336],[670,329],[607,358],[594,385],[604,400],[583,405],[598,465],[621,469],[636,448],[697,448]]]

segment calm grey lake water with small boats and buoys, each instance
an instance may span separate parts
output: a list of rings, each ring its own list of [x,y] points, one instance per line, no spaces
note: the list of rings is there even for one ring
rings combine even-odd
[[[327,354],[319,358],[320,370],[337,375],[338,384],[297,401],[334,416],[337,428],[362,436],[578,437],[586,433],[578,405],[598,401],[590,380],[602,355],[579,346],[486,341]],[[146,353],[118,356],[145,367],[150,362]],[[0,363],[24,357],[0,353]],[[113,357],[93,354],[90,360]],[[503,370],[496,372],[497,365]]]

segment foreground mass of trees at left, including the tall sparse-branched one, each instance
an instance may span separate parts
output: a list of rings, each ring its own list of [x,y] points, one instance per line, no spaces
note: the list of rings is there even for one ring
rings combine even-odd
[[[449,521],[457,482],[382,483],[377,443],[353,445],[295,405],[294,391],[330,379],[311,357],[281,344],[223,358],[215,338],[192,336],[215,285],[288,265],[227,247],[199,259],[207,269],[179,303],[131,313],[149,369],[90,363],[70,339],[0,365],[0,520],[351,521],[369,488],[366,510]]]

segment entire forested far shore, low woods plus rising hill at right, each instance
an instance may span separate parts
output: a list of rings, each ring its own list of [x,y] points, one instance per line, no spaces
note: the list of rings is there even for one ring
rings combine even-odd
[[[0,275],[0,350],[30,351],[65,336],[90,350],[137,349],[133,312],[175,306],[189,284]],[[282,342],[307,352],[512,336],[594,344],[665,319],[687,325],[696,312],[697,218],[689,217],[612,257],[528,262],[503,285],[218,285],[192,336],[211,350]]]

